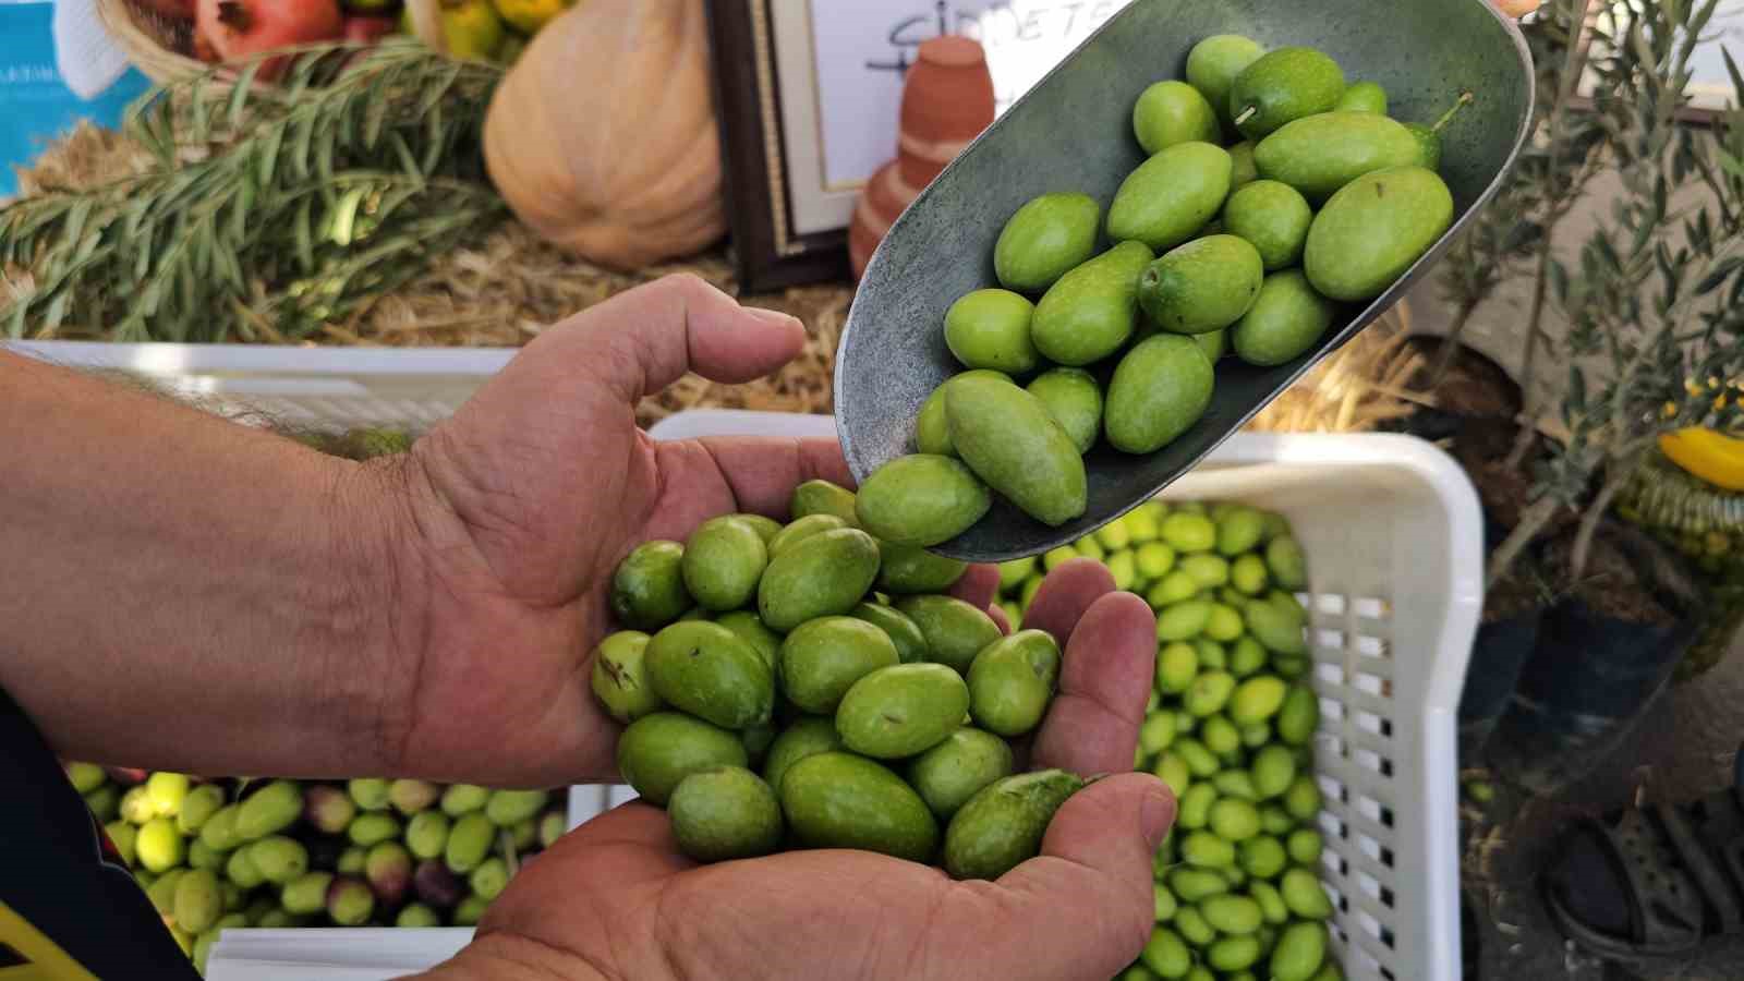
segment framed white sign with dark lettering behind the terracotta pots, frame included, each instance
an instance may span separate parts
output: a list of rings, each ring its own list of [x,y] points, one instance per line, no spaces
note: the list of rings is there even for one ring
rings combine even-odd
[[[727,211],[750,292],[848,276],[921,42],[982,42],[1005,112],[1130,0],[710,0]]]

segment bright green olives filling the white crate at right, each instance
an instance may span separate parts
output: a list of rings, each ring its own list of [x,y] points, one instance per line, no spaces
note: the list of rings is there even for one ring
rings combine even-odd
[[[1134,768],[1175,791],[1177,815],[1153,866],[1156,929],[1120,978],[1339,978],[1318,878],[1320,700],[1298,674],[1308,613],[1292,593],[1311,569],[1289,522],[1238,503],[1149,501],[1060,553],[1130,569],[1125,588],[1156,611]],[[1036,562],[1003,573],[999,592],[1018,604],[1043,576]]]

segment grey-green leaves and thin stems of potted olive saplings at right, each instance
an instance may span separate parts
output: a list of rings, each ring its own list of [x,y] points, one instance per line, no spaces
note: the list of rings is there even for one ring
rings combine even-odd
[[[1514,178],[1526,185],[1517,199],[1540,202],[1543,229],[1529,236],[1538,298],[1528,344],[1542,344],[1568,372],[1561,400],[1538,412],[1557,415],[1566,438],[1540,463],[1535,506],[1498,548],[1491,581],[1557,506],[1587,508],[1571,569],[1578,576],[1598,518],[1660,435],[1744,426],[1727,388],[1744,379],[1744,77],[1730,54],[1734,108],[1711,126],[1686,113],[1692,58],[1716,7],[1664,0],[1601,17],[1585,66],[1596,79],[1591,106],[1550,105],[1552,119],[1564,117],[1550,124],[1550,154],[1533,154]],[[1557,0],[1549,19],[1575,23],[1582,9],[1584,0]],[[1564,262],[1568,251],[1552,248],[1568,213],[1557,202],[1580,201],[1564,196],[1584,190],[1596,168],[1622,187]],[[1491,215],[1489,223],[1529,220]],[[1568,321],[1563,339],[1538,333],[1543,304]],[[1531,382],[1528,372],[1523,384]]]

